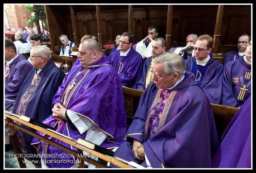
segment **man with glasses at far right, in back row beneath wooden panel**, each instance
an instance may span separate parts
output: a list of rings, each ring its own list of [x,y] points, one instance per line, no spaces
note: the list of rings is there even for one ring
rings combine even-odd
[[[223,66],[229,61],[239,59],[245,55],[247,44],[251,41],[251,35],[242,34],[237,42],[237,48],[224,56]]]

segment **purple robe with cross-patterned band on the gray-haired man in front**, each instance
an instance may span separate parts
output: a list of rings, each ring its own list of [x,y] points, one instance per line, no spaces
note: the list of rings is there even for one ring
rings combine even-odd
[[[189,72],[172,90],[146,88],[126,136],[114,155],[146,167],[134,158],[136,139],[153,168],[211,168],[218,145],[210,102]]]

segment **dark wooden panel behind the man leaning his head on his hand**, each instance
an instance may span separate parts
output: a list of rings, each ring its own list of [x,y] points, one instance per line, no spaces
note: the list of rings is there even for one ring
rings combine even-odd
[[[143,33],[144,36],[140,40],[144,39],[147,36],[148,27],[151,25],[155,25],[158,27],[158,36],[165,38],[166,35],[166,25],[167,25],[167,18],[152,18],[152,19],[143,19]]]

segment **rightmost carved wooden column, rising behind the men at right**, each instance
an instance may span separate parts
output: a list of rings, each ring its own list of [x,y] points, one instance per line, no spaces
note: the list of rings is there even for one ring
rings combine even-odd
[[[215,23],[215,29],[214,29],[214,35],[213,35],[213,46],[212,46],[212,56],[217,61],[223,63],[222,56],[218,56],[218,44],[219,44],[219,38],[221,37],[221,26],[222,26],[222,18],[223,18],[223,9],[224,5],[218,5],[218,12],[216,17],[216,23]]]

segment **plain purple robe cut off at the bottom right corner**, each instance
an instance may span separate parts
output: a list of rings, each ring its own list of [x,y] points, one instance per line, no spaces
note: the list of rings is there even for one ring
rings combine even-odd
[[[225,130],[212,168],[251,168],[251,96]]]

